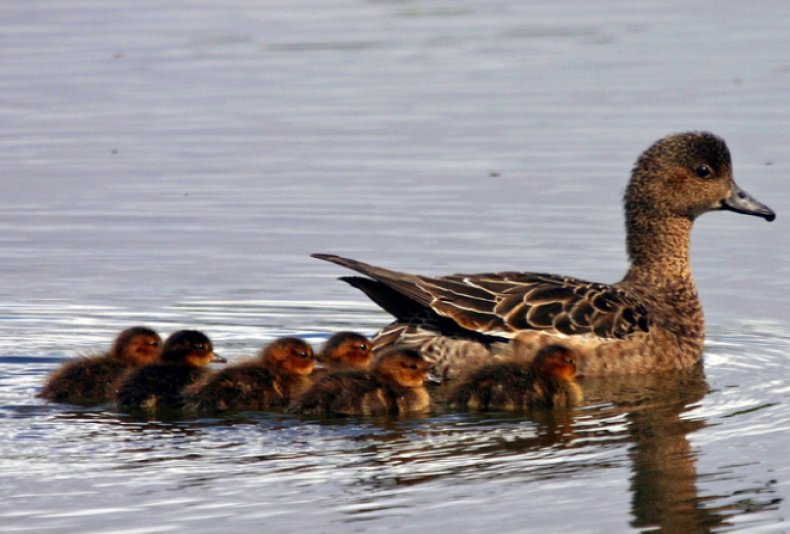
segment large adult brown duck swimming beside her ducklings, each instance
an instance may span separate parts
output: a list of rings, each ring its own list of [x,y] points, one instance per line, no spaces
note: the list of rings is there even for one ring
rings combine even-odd
[[[341,280],[395,317],[373,338],[419,350],[440,379],[491,358],[528,361],[562,343],[584,376],[688,368],[701,360],[705,321],[689,262],[700,215],[728,210],[773,221],[776,214],[733,179],[726,143],[683,132],[637,159],[624,196],[629,267],[618,282],[549,273],[423,276],[332,254],[313,254],[361,273]]]

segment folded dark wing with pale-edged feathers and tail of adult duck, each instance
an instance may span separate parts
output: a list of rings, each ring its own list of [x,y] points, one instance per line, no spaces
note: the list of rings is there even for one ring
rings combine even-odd
[[[430,310],[458,327],[512,338],[524,330],[624,338],[647,332],[648,310],[617,286],[542,273],[501,272],[420,276],[328,254],[314,254],[372,280],[345,279],[397,319]]]

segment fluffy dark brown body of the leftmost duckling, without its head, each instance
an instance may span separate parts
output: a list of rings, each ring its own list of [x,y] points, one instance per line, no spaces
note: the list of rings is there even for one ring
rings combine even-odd
[[[52,373],[38,396],[55,402],[106,402],[128,369],[123,361],[109,355],[79,358]]]

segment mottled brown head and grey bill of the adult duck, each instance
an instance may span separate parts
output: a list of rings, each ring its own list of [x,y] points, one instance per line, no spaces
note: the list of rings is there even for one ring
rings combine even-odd
[[[686,218],[730,210],[773,221],[776,214],[738,187],[727,145],[709,132],[659,139],[634,166],[625,192],[626,217]]]

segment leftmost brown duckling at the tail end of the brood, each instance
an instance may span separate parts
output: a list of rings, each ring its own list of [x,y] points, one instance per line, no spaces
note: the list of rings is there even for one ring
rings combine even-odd
[[[145,326],[121,331],[110,350],[70,360],[47,378],[39,397],[71,404],[112,400],[116,382],[129,370],[159,361],[162,338]]]

